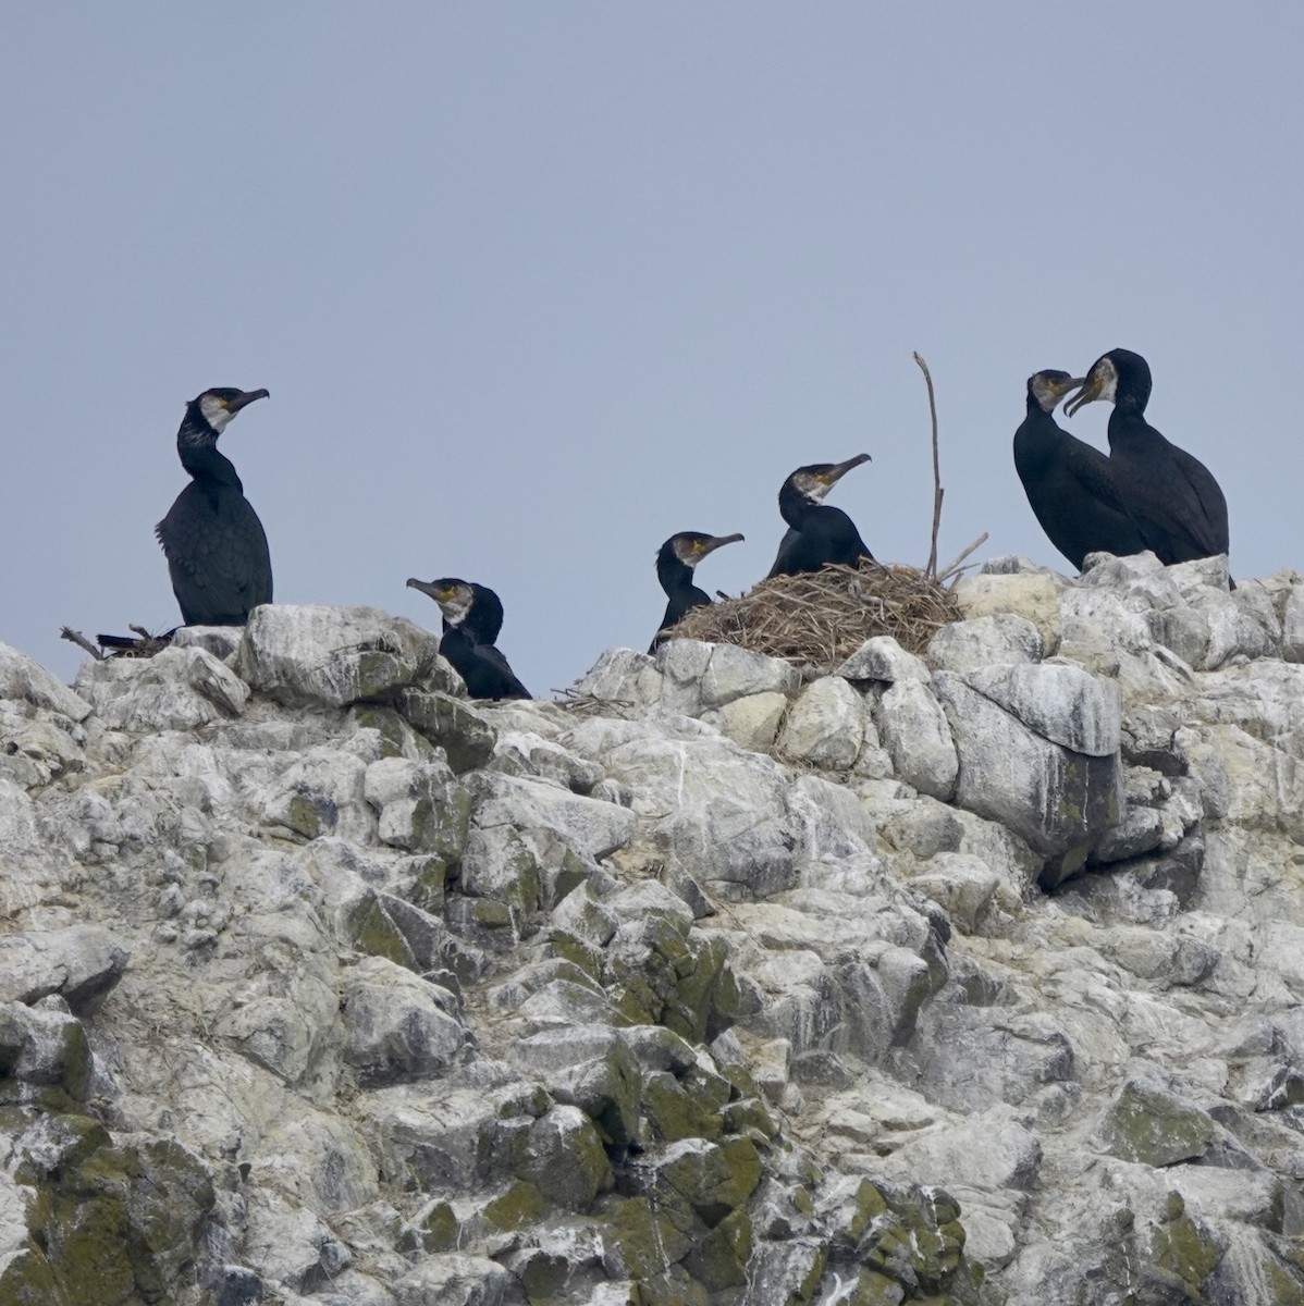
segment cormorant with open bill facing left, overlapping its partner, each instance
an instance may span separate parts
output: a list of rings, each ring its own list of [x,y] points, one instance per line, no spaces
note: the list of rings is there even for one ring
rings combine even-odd
[[[1150,364],[1130,349],[1112,349],[1091,364],[1082,389],[1065,404],[1070,417],[1092,400],[1113,404],[1109,465],[1124,507],[1160,562],[1226,554],[1227,500],[1198,458],[1165,440],[1145,418]]]

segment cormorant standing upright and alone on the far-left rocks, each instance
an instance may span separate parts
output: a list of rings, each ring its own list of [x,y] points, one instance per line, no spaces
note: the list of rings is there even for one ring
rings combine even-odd
[[[252,609],[272,602],[263,522],[230,458],[217,452],[226,423],[247,404],[265,398],[267,390],[222,387],[186,405],[176,452],[192,479],[154,534],[187,626],[243,626]]]

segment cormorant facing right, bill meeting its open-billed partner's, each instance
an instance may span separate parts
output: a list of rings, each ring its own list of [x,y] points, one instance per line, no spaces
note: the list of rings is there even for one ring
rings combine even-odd
[[[1090,552],[1126,556],[1146,542],[1118,498],[1109,458],[1052,415],[1079,385],[1081,377],[1053,370],[1028,377],[1028,415],[1014,432],[1014,466],[1047,538],[1082,571]]]

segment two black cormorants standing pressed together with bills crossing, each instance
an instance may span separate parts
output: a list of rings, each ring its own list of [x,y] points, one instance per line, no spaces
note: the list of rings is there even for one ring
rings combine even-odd
[[[1151,550],[1164,564],[1228,551],[1227,500],[1209,469],[1146,422],[1150,364],[1113,349],[1084,377],[1043,371],[1028,379],[1027,417],[1014,465],[1051,543],[1079,571],[1088,552]],[[1109,456],[1062,430],[1095,400],[1113,404]]]

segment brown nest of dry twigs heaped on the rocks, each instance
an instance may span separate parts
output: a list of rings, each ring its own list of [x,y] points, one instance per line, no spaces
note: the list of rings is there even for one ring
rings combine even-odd
[[[862,562],[763,580],[741,598],[693,609],[665,633],[831,671],[874,635],[922,653],[934,631],[962,615],[950,592],[921,571]]]

